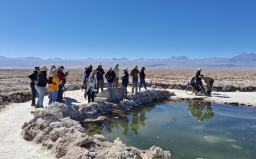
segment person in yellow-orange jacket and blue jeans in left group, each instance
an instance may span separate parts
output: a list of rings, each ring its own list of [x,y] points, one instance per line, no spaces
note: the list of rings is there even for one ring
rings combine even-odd
[[[52,74],[49,76],[48,80],[52,81],[52,84],[49,84],[48,92],[49,92],[49,102],[48,105],[53,105],[54,102],[57,100],[57,94],[59,91],[59,85],[62,81],[60,81],[59,77],[57,76],[58,72],[56,68],[52,69]]]

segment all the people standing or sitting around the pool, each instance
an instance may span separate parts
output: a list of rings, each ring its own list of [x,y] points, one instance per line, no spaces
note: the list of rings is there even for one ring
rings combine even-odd
[[[31,106],[35,106],[35,108],[43,108],[43,100],[44,94],[46,91],[46,87],[49,94],[49,102],[48,105],[52,105],[54,102],[62,102],[64,86],[66,83],[66,78],[69,75],[69,72],[63,72],[65,68],[63,66],[56,67],[52,65],[48,71],[46,66],[35,67],[34,72],[28,76],[30,78],[30,87],[32,90],[32,104]],[[125,92],[127,94],[127,86],[129,84],[129,76],[132,77],[132,93],[137,93],[138,88],[141,91],[142,85],[144,89],[147,90],[144,71],[145,67],[142,67],[141,70],[138,70],[138,66],[135,65],[133,70],[131,70],[129,74],[128,68],[123,68],[123,72],[119,77],[119,65],[115,64],[114,68],[109,67],[108,71],[105,74],[104,69],[102,68],[101,63],[98,63],[98,67],[93,69],[92,65],[88,65],[85,67],[83,72],[84,83],[82,84],[82,89],[85,89],[84,97],[88,97],[88,102],[94,101],[94,96],[100,91],[104,91],[104,75],[105,79],[108,82],[108,88],[117,88],[119,86],[119,79],[122,80],[122,87],[125,88]],[[197,86],[198,91],[203,92],[204,94],[210,96],[212,92],[212,87],[214,80],[208,76],[204,76],[201,74],[202,69],[199,68],[196,72],[196,75],[189,79],[188,84],[192,86]],[[48,76],[48,78],[47,78]],[[205,92],[203,87],[202,79],[204,79],[205,83],[208,85],[208,91]],[[140,84],[139,84],[140,81]],[[38,101],[35,101],[36,92],[38,92],[39,97]]]

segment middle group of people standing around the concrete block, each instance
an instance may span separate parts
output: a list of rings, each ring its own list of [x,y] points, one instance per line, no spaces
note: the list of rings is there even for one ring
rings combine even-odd
[[[92,65],[88,65],[85,67],[83,72],[84,83],[82,84],[81,89],[85,89],[85,98],[88,97],[88,102],[94,101],[94,96],[97,94],[100,89],[101,92],[104,91],[104,75],[105,79],[108,82],[108,88],[117,88],[119,85],[119,79],[122,80],[122,87],[125,88],[125,92],[127,94],[127,85],[129,84],[129,76],[132,76],[132,93],[141,91],[142,84],[147,90],[146,81],[145,81],[145,67],[141,68],[141,71],[138,70],[138,66],[135,65],[133,70],[131,70],[130,74],[128,73],[128,68],[123,68],[123,72],[119,78],[119,64],[116,63],[114,68],[109,67],[108,72],[106,72],[102,68],[101,63],[98,63],[98,67],[93,69]],[[141,84],[139,84],[139,79]],[[138,85],[139,84],[139,85]]]

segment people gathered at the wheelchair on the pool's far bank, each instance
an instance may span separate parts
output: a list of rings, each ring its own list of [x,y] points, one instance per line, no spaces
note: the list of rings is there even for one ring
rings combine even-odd
[[[196,75],[193,76],[191,79],[189,79],[188,84],[192,85],[192,86],[197,86],[198,92],[202,92],[202,93],[206,94],[207,96],[211,96],[214,79],[210,78],[208,76],[204,76],[203,74],[201,74],[202,71],[203,71],[202,68],[198,68]],[[207,84],[207,87],[208,87],[207,92],[205,92],[205,88],[204,88],[202,79]]]

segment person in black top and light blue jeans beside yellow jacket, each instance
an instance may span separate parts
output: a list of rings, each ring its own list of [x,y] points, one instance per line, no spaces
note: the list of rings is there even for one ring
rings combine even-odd
[[[38,73],[38,79],[35,83],[35,89],[38,91],[38,101],[36,102],[35,108],[44,108],[43,102],[44,102],[44,94],[46,92],[46,85],[47,83],[52,83],[52,81],[47,80],[47,70],[48,68],[46,66],[41,66],[40,71]]]

